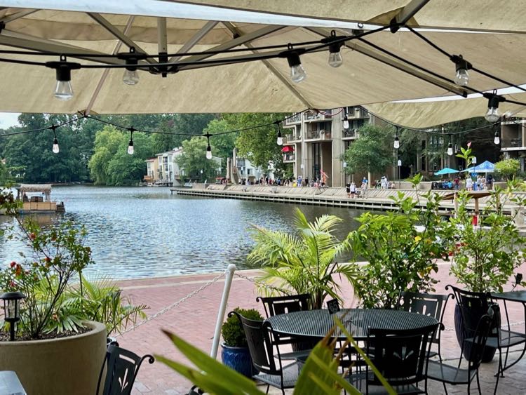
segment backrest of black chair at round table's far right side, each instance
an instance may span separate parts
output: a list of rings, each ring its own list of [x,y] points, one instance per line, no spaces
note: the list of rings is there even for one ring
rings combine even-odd
[[[431,316],[438,322],[442,323],[444,318],[445,307],[447,300],[452,297],[449,295],[438,295],[431,293],[416,293],[416,292],[401,292],[398,299],[398,309],[406,312],[423,314],[424,316]],[[437,330],[433,336],[433,343],[440,342],[441,330]]]

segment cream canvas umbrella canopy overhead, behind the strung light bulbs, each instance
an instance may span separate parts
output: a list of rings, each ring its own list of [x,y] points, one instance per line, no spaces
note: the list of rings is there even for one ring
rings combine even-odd
[[[77,53],[82,54],[81,60],[72,56],[68,60],[83,65],[93,65],[94,60],[123,64],[123,60],[97,55],[127,52],[130,46],[156,55],[159,51],[177,53],[317,41],[329,36],[332,29],[339,35],[348,35],[358,28],[356,22],[363,22],[367,31],[419,9],[408,25],[436,28],[420,32],[449,53],[464,55],[490,74],[515,84],[526,83],[526,51],[520,51],[526,48],[525,0],[487,4],[478,0],[356,0],[351,4],[341,0],[0,0],[1,6],[6,8],[0,8],[0,22],[5,24],[0,33],[0,50]],[[0,111],[296,112],[367,105],[372,112],[405,126],[431,126],[484,114],[487,100],[481,98],[438,105],[375,104],[445,97],[464,89],[438,78],[437,74],[452,79],[454,64],[407,29],[395,34],[388,29],[370,34],[365,40],[346,42],[342,48],[344,65],[337,69],[328,66],[326,49],[302,55],[308,78],[299,84],[290,81],[287,60],[283,58],[216,67],[202,63],[209,58],[236,56],[231,54],[171,57],[174,64],[185,62],[179,72],[168,74],[167,78],[140,72],[136,86],[122,82],[123,69],[73,70],[75,95],[67,102],[53,98],[53,69],[0,62]],[[58,55],[37,58],[0,54],[0,58],[45,62],[58,60]],[[189,61],[190,65],[186,63]],[[505,83],[471,74],[470,86],[479,91],[506,87]],[[501,106],[504,111],[520,109],[508,103]]]

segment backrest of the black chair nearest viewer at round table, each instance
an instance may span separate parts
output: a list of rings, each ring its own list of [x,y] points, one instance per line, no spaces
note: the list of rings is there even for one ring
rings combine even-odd
[[[431,347],[429,339],[439,325],[414,330],[369,329],[367,352],[372,353],[372,363],[389,384],[398,386],[426,380]],[[374,350],[369,349],[370,340],[374,341]],[[376,375],[369,374],[367,384],[382,385]]]

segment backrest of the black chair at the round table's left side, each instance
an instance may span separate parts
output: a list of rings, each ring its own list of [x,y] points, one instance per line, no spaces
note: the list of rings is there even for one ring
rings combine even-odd
[[[246,319],[238,312],[229,312],[229,316],[231,314],[236,314],[239,321],[241,321],[241,325],[243,325],[252,365],[262,373],[268,373],[269,375],[281,374],[281,365],[278,368],[274,361],[274,338],[271,324],[266,321]],[[279,350],[277,352],[279,359]]]

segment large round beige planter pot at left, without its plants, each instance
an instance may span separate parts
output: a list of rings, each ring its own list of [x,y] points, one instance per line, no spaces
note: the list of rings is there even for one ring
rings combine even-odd
[[[0,370],[15,370],[28,395],[93,395],[106,354],[106,328],[50,340],[0,342]],[[104,377],[103,379],[104,380]]]

